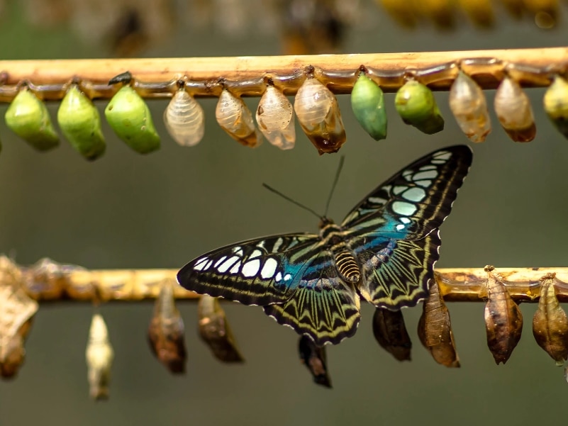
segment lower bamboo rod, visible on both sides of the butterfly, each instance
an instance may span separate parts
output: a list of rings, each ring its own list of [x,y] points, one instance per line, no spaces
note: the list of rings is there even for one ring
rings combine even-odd
[[[513,299],[534,302],[545,277],[555,276],[557,297],[568,302],[568,268],[496,268],[493,272]],[[38,301],[144,301],[154,299],[162,284],[176,283],[177,269],[92,270],[43,259],[33,267],[18,267],[0,257],[0,286],[21,286]],[[446,301],[484,301],[487,272],[483,268],[435,269]],[[199,295],[174,286],[174,297],[193,300]]]

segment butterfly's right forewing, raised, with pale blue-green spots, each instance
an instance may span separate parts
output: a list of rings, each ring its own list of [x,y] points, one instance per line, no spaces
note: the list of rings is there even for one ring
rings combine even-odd
[[[471,164],[472,150],[466,145],[426,155],[372,191],[347,215],[342,227],[352,237],[425,237],[450,214]]]

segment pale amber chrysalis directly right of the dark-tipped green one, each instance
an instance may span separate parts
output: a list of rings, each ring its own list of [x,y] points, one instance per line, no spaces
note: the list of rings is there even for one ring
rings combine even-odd
[[[462,132],[472,142],[483,142],[491,132],[485,94],[464,72],[457,74],[450,89],[450,109]]]

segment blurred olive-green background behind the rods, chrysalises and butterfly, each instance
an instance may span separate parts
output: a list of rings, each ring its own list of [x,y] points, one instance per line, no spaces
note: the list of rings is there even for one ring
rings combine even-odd
[[[106,57],[67,26],[30,26],[16,1],[0,21],[1,59]],[[564,17],[567,16],[564,9]],[[424,26],[408,31],[370,7],[373,25],[345,33],[343,52],[408,52],[566,44],[567,25],[542,30],[504,13],[493,30],[467,21],[455,32]],[[250,22],[251,27],[257,22]],[[145,57],[277,55],[277,35],[254,28],[227,37],[215,28],[178,26]],[[8,70],[9,71],[9,70]],[[566,267],[568,141],[542,112],[543,89],[527,91],[538,135],[525,145],[494,130],[474,145],[474,165],[452,215],[442,226],[438,267]],[[494,91],[486,91],[492,106]],[[339,96],[347,143],[345,168],[330,209],[341,220],[357,201],[413,159],[446,145],[472,145],[447,106],[436,98],[446,128],[428,136],[396,116],[386,94],[389,137],[375,142]],[[247,99],[255,108],[258,99]],[[87,268],[179,268],[202,252],[230,242],[289,231],[316,231],[308,213],[262,189],[277,187],[321,211],[338,156],[319,157],[298,127],[294,150],[264,142],[250,150],[223,133],[214,119],[216,99],[201,101],[206,135],[196,147],[177,146],[161,120],[167,101],[150,101],[162,149],[131,151],[104,123],[108,149],[84,161],[65,142],[34,152],[0,123],[0,252],[20,264],[40,257]],[[105,103],[98,104],[101,112]],[[491,108],[492,109],[492,108]],[[3,117],[6,105],[0,106]],[[57,105],[51,104],[55,118]],[[254,110],[253,110],[254,111]],[[0,382],[0,425],[535,425],[565,421],[568,384],[534,342],[535,305],[521,306],[524,337],[506,366],[486,348],[483,305],[450,304],[462,368],[435,364],[416,338],[421,309],[405,310],[413,360],[399,363],[374,341],[372,307],[362,307],[355,337],[328,347],[333,390],[316,386],[299,363],[297,335],[261,308],[223,304],[246,358],[241,366],[213,359],[196,335],[196,304],[180,303],[189,352],[187,373],[172,377],[150,353],[146,329],[151,303],[109,303],[101,308],[115,349],[111,399],[89,399],[84,349],[92,308],[79,303],[40,306],[26,344],[26,364],[13,381]]]

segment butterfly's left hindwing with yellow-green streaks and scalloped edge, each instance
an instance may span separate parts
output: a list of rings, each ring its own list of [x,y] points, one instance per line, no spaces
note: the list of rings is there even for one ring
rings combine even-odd
[[[355,288],[340,279],[333,255],[322,248],[306,264],[288,301],[264,306],[264,313],[323,346],[355,334],[359,309]]]

